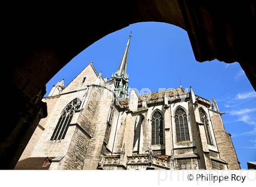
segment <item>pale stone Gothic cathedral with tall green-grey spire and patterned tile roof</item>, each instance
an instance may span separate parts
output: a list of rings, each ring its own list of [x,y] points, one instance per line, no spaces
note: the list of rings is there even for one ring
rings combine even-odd
[[[180,88],[138,95],[128,88],[128,50],[110,79],[91,62],[53,86],[15,169],[236,170],[216,101]]]

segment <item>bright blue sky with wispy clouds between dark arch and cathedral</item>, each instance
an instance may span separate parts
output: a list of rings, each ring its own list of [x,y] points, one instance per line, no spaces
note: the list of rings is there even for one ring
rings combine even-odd
[[[143,22],[113,32],[86,48],[62,68],[46,85],[64,78],[67,85],[89,62],[102,77],[110,78],[118,67],[128,36],[132,38],[128,54],[129,87],[159,88],[192,86],[195,94],[215,98],[223,116],[226,131],[232,140],[241,168],[247,161],[256,161],[256,92],[239,63],[226,64],[213,60],[197,62],[187,32],[177,26]]]

